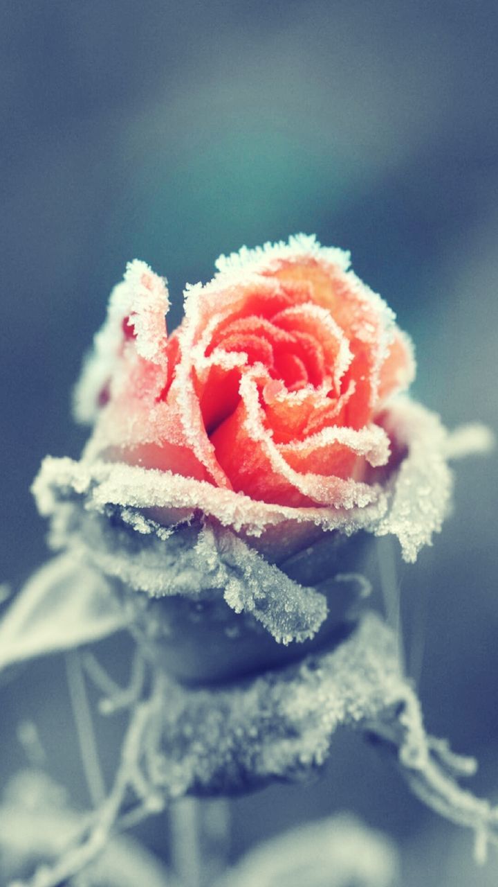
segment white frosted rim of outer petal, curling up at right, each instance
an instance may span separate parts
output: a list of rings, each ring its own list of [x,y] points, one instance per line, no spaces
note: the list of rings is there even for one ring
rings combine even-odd
[[[370,504],[343,508],[276,505],[171,471],[95,459],[47,458],[33,489],[41,513],[51,517],[56,536],[65,503],[79,498],[86,510],[105,514],[113,506],[142,509],[165,525],[205,514],[268,553],[292,546],[291,540],[313,537],[320,528],[348,535],[361,529],[377,535],[393,533],[400,538],[404,557],[412,560],[432,533],[440,530],[447,513],[451,436],[434,413],[409,398],[393,401],[378,421],[403,451],[403,458],[389,483],[363,484],[370,491]],[[383,470],[372,468],[373,479]],[[65,520],[70,524],[69,518]]]

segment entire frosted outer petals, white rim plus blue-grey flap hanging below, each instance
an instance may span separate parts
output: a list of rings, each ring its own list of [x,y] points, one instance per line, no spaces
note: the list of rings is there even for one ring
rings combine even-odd
[[[384,489],[367,487],[377,501],[362,507],[276,506],[171,472],[51,458],[35,481],[35,498],[51,518],[54,548],[87,558],[123,585],[152,596],[224,595],[276,640],[306,640],[325,619],[323,595],[270,561],[314,543],[323,530],[393,533],[413,561],[447,513],[446,429],[408,398],[393,399],[385,417],[407,454]]]

